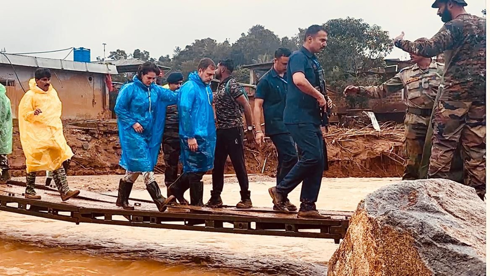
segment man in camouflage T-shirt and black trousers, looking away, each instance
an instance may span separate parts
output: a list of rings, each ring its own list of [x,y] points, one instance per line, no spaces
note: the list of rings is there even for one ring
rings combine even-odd
[[[218,63],[216,78],[220,80],[214,93],[216,110],[216,151],[213,168],[213,190],[207,205],[220,207],[223,205],[224,166],[228,155],[240,184],[241,200],[237,208],[250,208],[250,191],[248,191],[248,175],[245,168],[244,154],[244,123],[242,113],[245,112],[247,122],[247,140],[253,141],[252,109],[246,92],[233,78],[231,73],[235,64],[226,59]]]

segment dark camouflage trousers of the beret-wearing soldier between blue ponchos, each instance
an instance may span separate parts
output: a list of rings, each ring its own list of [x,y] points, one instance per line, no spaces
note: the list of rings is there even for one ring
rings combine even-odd
[[[163,138],[163,160],[165,162],[165,185],[169,187],[178,176],[180,138]]]

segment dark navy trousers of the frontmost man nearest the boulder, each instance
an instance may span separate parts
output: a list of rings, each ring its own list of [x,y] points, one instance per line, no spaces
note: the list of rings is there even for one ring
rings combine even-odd
[[[287,124],[286,127],[296,142],[301,156],[276,189],[279,193],[287,195],[302,181],[300,210],[316,209],[315,202],[318,199],[324,166],[323,136],[320,127],[308,123]]]

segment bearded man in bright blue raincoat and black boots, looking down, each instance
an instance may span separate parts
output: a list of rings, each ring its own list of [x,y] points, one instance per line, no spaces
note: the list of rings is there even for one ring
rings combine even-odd
[[[199,62],[197,71],[189,74],[180,87],[179,137],[180,160],[184,173],[168,188],[169,197],[187,203],[184,192],[190,188],[191,205],[203,206],[202,176],[213,168],[216,127],[213,112],[213,92],[209,84],[216,65],[210,58]],[[171,196],[172,195],[172,196]]]

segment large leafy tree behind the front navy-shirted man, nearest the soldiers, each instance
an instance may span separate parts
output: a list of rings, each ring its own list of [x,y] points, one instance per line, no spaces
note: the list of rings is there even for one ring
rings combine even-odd
[[[393,48],[387,31],[369,25],[362,19],[349,17],[329,20],[323,27],[328,31],[328,42],[318,57],[330,89],[342,93],[349,84],[371,85],[382,82],[380,75],[369,71],[386,66],[384,58]],[[304,31],[300,30],[297,41],[304,36]],[[365,108],[368,99],[350,97],[347,102],[350,108]]]

